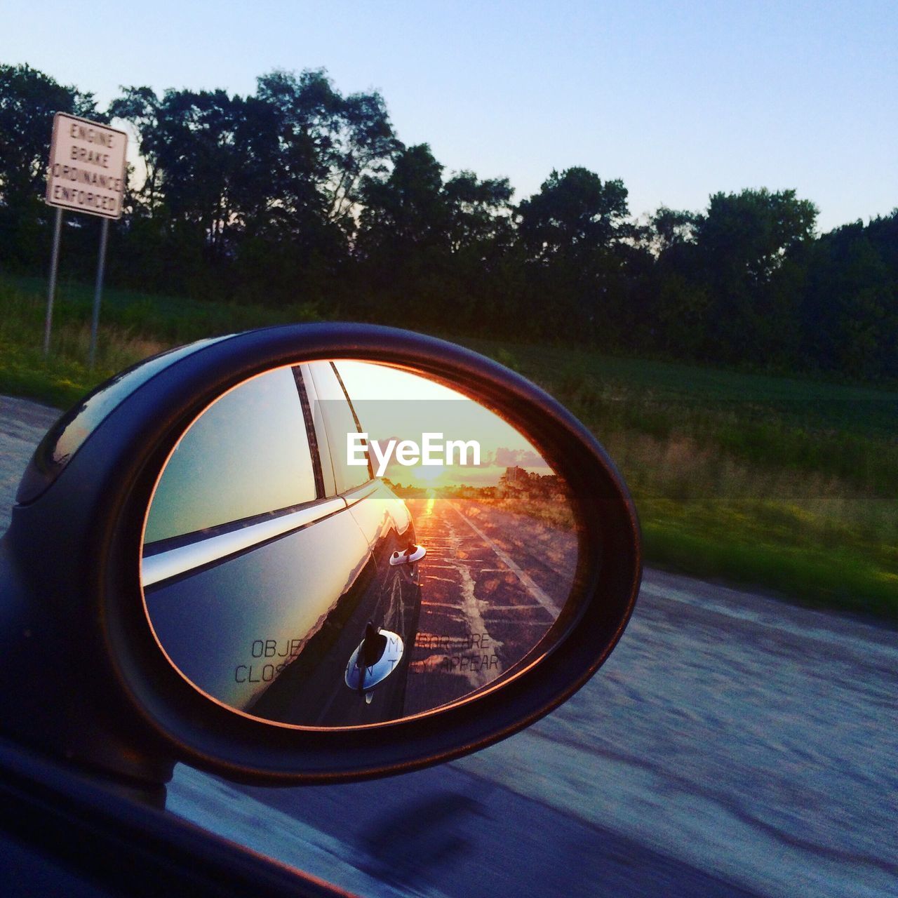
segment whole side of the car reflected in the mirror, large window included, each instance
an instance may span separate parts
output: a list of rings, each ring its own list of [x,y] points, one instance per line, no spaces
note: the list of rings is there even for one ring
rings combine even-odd
[[[359,619],[385,626],[378,556],[410,522],[366,469],[346,489],[306,383],[313,391],[299,369],[255,378],[181,439],[147,521],[145,598],[173,664],[216,700],[289,723],[346,725],[359,710],[343,682]],[[382,490],[388,497],[375,497]],[[365,719],[401,715],[395,692]]]

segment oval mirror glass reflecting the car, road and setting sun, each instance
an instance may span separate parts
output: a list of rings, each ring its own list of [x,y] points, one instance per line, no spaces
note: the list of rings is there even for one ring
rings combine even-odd
[[[566,483],[445,383],[322,360],[239,384],[172,450],[141,582],[176,670],[293,726],[439,708],[541,655],[577,572]]]

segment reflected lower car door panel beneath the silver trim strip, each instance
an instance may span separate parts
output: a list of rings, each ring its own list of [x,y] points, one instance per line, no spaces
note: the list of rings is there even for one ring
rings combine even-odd
[[[246,710],[303,652],[369,559],[343,506],[295,533],[146,587],[147,612],[181,674]]]

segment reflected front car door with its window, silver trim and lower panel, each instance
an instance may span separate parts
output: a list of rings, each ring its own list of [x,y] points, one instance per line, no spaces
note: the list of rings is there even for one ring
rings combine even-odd
[[[345,501],[323,489],[289,368],[225,394],[172,453],[145,532],[156,637],[190,682],[247,710],[365,572]]]

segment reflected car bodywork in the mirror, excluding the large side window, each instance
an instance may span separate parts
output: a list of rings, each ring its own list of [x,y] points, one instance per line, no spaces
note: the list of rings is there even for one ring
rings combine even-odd
[[[357,427],[348,397],[324,365],[317,381],[331,398],[317,401],[310,367],[300,366],[296,404],[306,401],[319,484],[364,480],[369,470],[334,460],[341,430]],[[216,435],[222,429],[217,422]],[[195,461],[190,445],[209,440],[188,435],[182,444],[185,465]],[[348,726],[401,717],[407,658],[367,697],[347,685],[346,671],[369,622],[409,649],[414,641],[417,578],[389,563],[413,536],[405,504],[383,481],[365,480],[340,497],[261,517],[145,546],[146,610],[173,665],[200,691],[260,718]],[[302,525],[285,531],[297,518]]]

